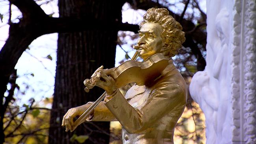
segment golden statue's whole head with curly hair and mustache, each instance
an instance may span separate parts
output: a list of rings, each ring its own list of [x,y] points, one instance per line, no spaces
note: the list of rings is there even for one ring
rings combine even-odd
[[[173,57],[185,41],[182,26],[164,8],[148,9],[139,28],[140,38],[134,48],[144,60],[157,53]]]

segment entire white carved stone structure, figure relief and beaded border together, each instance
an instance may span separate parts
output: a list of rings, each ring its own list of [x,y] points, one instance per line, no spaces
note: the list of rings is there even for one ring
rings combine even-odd
[[[256,0],[207,0],[206,68],[190,94],[207,144],[256,144]]]

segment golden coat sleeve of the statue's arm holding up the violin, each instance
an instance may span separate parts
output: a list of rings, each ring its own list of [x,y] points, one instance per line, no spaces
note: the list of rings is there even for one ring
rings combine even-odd
[[[171,81],[157,85],[140,109],[132,107],[118,89],[114,94],[104,103],[129,133],[139,133],[173,109],[183,111],[186,105],[186,92]]]

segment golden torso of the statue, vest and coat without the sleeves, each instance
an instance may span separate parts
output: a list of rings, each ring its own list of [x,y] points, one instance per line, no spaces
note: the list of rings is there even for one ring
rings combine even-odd
[[[154,88],[157,85],[166,83],[166,81],[175,81],[175,83],[183,87],[186,91],[186,83],[179,72],[177,72],[178,70],[171,63],[165,69],[165,75],[158,79],[154,85],[150,87],[134,85],[131,87],[125,95],[126,100],[132,107],[141,110]],[[130,134],[125,129],[122,129],[123,144],[173,144],[174,127],[184,111],[184,106],[163,109],[163,111],[167,113],[159,116],[152,125],[140,133]],[[148,113],[154,113],[154,111],[149,111]]]

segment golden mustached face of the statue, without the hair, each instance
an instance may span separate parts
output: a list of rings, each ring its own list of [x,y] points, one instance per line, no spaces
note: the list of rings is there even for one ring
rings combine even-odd
[[[150,22],[142,25],[141,30],[139,30],[139,57],[145,60],[154,54],[160,53],[164,44],[161,38],[162,32],[163,28],[158,23]]]

